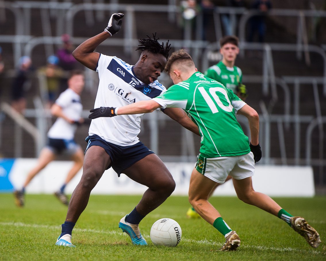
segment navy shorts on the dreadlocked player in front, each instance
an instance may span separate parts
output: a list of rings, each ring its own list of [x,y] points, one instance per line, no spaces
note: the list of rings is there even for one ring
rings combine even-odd
[[[118,177],[126,168],[129,168],[147,155],[154,154],[142,142],[130,146],[119,146],[103,140],[98,135],[90,135],[85,140],[88,143],[86,151],[91,146],[100,146],[105,149],[111,158],[111,164],[107,169],[112,167],[118,174]]]

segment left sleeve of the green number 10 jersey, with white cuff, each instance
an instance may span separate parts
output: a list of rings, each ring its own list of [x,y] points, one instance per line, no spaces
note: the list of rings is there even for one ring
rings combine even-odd
[[[189,84],[181,82],[172,85],[166,92],[153,98],[152,100],[160,104],[162,108],[173,107],[185,109],[188,100],[188,91]]]

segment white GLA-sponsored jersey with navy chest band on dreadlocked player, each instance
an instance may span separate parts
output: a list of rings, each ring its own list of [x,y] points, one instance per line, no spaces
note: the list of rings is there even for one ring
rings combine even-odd
[[[99,84],[94,108],[121,107],[140,100],[151,100],[166,91],[157,80],[144,84],[129,65],[115,56],[100,54],[96,71]],[[120,146],[139,142],[141,117],[144,114],[118,115],[93,119],[89,135],[98,135],[103,140]]]

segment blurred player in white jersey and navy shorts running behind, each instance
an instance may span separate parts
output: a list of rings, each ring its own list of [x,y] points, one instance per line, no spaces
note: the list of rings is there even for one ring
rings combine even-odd
[[[14,192],[17,206],[24,206],[26,186],[59,154],[68,155],[74,161],[74,165],[69,170],[64,184],[54,193],[63,204],[68,205],[68,198],[64,193],[65,187],[81,169],[84,159],[82,148],[74,141],[77,125],[84,121],[81,117],[82,103],[80,98],[84,84],[85,81],[82,71],[72,71],[68,79],[67,90],[62,92],[52,105],[51,114],[56,116],[57,119],[48,131],[48,143],[41,150],[37,165],[28,173],[22,189]]]

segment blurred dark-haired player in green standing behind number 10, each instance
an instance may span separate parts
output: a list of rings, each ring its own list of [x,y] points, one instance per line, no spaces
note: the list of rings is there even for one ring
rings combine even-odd
[[[242,84],[242,71],[234,66],[235,59],[239,54],[239,39],[235,36],[226,36],[220,39],[220,53],[222,61],[211,66],[205,71],[205,75],[231,89],[241,100],[245,100],[247,90]]]

